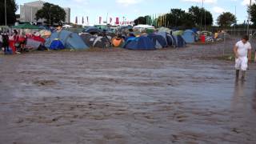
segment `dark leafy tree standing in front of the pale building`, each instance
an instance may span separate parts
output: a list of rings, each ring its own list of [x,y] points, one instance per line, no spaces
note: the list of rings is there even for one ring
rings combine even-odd
[[[53,25],[54,23],[65,22],[66,12],[62,7],[46,2],[35,16],[37,21],[43,18],[47,24]]]

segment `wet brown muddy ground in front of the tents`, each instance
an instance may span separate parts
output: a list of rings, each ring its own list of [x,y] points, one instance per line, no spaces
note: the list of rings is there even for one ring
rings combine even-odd
[[[1,55],[0,143],[254,144],[256,64],[222,48]]]

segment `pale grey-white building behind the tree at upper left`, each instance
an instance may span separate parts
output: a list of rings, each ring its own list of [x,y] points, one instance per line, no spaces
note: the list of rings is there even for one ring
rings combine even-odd
[[[35,14],[42,9],[45,2],[39,0],[35,2],[24,3],[20,6],[20,21],[21,22],[37,22]],[[63,7],[62,7],[63,8]],[[66,23],[70,23],[70,8],[63,8],[66,12]],[[38,22],[42,22],[39,20]]]

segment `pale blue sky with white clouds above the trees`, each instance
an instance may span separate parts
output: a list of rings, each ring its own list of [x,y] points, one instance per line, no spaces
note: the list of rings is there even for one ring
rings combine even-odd
[[[82,17],[89,17],[89,24],[97,24],[99,17],[104,21],[119,18],[120,21],[133,21],[139,16],[166,14],[170,9],[179,8],[188,10],[190,6],[202,6],[202,0],[43,0],[44,2],[54,3],[62,7],[70,7],[71,22],[75,22],[78,16],[78,24],[82,24]],[[214,25],[216,19],[222,12],[236,14],[238,23],[243,23],[248,14],[246,12],[250,0],[203,0],[203,6],[214,16]],[[18,6],[34,0],[16,0]],[[255,2],[255,0],[252,0]],[[19,14],[19,10],[17,14]]]

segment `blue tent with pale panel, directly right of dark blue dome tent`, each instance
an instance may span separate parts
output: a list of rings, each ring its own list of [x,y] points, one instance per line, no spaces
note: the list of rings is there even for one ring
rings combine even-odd
[[[147,37],[154,42],[155,48],[163,48],[167,46],[166,39],[163,38],[161,34],[149,34]]]

